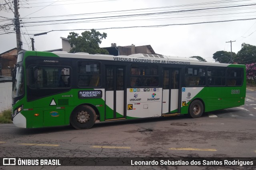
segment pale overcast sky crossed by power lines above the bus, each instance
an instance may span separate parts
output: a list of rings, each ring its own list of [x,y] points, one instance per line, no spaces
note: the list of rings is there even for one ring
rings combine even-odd
[[[16,47],[11,2],[0,0],[0,53]],[[20,0],[19,7],[26,50],[30,38],[45,51],[62,48],[69,32],[90,29],[107,33],[100,47],[151,45],[162,55],[207,61],[230,51],[230,40],[235,53],[242,43],[256,45],[256,0]],[[42,32],[49,33],[34,36]]]

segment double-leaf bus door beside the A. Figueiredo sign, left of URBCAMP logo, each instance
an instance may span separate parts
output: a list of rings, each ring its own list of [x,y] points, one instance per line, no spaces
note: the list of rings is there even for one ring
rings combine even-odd
[[[122,66],[106,66],[105,120],[124,119],[124,69]]]

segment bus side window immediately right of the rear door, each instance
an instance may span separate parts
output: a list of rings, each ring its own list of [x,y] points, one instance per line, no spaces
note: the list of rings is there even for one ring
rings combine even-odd
[[[204,67],[186,67],[186,86],[205,86],[206,74]]]

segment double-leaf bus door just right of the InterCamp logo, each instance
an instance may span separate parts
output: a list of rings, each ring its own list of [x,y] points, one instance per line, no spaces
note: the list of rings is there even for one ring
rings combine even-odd
[[[180,113],[180,69],[164,69],[162,114]]]

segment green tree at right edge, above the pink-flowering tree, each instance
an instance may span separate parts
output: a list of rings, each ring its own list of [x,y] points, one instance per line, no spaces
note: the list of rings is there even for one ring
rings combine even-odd
[[[256,63],[256,46],[242,43],[242,49],[235,56],[235,61],[240,64]]]

